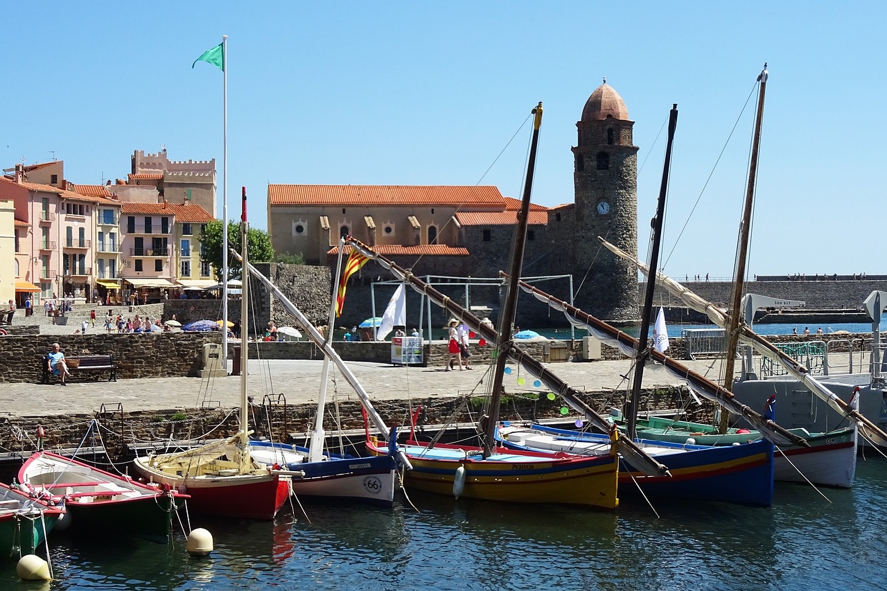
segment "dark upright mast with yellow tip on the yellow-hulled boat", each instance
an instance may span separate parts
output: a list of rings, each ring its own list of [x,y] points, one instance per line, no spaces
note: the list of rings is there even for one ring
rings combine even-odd
[[[502,316],[499,319],[498,338],[496,340],[496,371],[493,372],[492,396],[490,399],[490,417],[487,422],[483,439],[483,457],[487,458],[492,453],[495,443],[496,423],[498,422],[498,407],[502,398],[502,381],[505,374],[505,364],[508,360],[508,343],[511,343],[512,327],[514,327],[514,313],[517,310],[517,281],[521,279],[523,266],[523,250],[527,241],[527,220],[530,217],[530,193],[533,189],[533,172],[536,169],[536,148],[539,143],[539,127],[542,125],[542,103],[533,109],[536,117],[533,119],[533,137],[530,142],[530,161],[527,163],[527,180],[523,185],[523,197],[521,209],[517,213],[517,225],[514,226],[514,249],[511,253],[511,264],[508,272],[508,291],[505,305],[502,308]]]

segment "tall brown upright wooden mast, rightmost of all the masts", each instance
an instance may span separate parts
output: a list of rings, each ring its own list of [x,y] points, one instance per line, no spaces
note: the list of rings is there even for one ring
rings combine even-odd
[[[733,375],[735,373],[736,350],[739,348],[739,320],[741,317],[742,288],[745,278],[746,260],[749,255],[749,233],[751,225],[751,209],[755,201],[755,183],[757,181],[757,157],[761,146],[761,124],[764,121],[764,95],[767,90],[767,65],[757,76],[761,83],[757,95],[757,116],[755,118],[755,133],[751,143],[751,162],[749,164],[749,184],[745,189],[745,209],[742,210],[742,225],[739,228],[739,244],[736,247],[736,275],[733,284],[733,298],[730,302],[729,321],[726,327],[726,359],[724,362],[724,388],[733,390]],[[655,269],[654,266],[650,268]],[[655,281],[651,281],[655,283]],[[724,413],[720,417],[719,430],[726,433],[730,426],[730,417]]]

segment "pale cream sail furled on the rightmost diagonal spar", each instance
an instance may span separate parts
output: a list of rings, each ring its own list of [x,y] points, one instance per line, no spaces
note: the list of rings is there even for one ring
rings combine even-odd
[[[647,265],[641,263],[635,256],[630,255],[622,248],[609,243],[607,240],[600,237],[598,240],[600,240],[600,242],[614,254],[632,262],[632,264],[635,264],[638,267],[640,272],[649,276]],[[695,311],[703,312],[703,314],[708,316],[711,322],[718,325],[718,327],[726,327],[727,315],[715,304],[697,296],[678,281],[671,279],[671,277],[668,277],[661,272],[656,272],[655,282],[659,287],[667,289],[672,296],[678,297],[682,303],[687,305],[687,307],[692,308]],[[779,363],[787,372],[789,372],[789,374],[791,374],[792,377],[798,382],[801,382],[807,390],[810,390],[817,397],[824,400],[828,406],[831,406],[838,414],[844,416],[848,421],[865,427],[867,432],[874,433],[875,436],[887,440],[887,433],[885,433],[883,429],[878,427],[875,422],[872,422],[865,415],[861,414],[860,411],[844,402],[844,400],[839,398],[834,392],[828,390],[828,387],[814,378],[810,373],[810,370],[800,364],[797,359],[790,357],[774,347],[773,343],[767,341],[763,336],[758,335],[747,325],[741,325],[738,330],[740,343],[754,347],[756,351],[761,353],[761,355],[765,356],[767,359],[772,359]]]

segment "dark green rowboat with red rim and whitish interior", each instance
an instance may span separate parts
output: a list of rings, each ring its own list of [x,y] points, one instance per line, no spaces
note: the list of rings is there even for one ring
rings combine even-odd
[[[19,481],[38,495],[64,502],[77,530],[112,532],[169,542],[172,514],[185,497],[143,485],[50,452],[36,452],[19,470]]]

